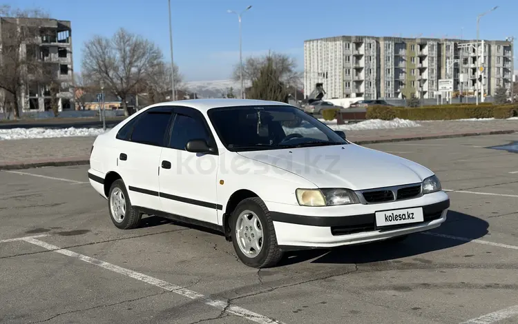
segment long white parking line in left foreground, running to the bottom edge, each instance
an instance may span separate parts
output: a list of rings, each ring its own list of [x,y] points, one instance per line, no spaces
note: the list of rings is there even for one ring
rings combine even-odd
[[[124,267],[119,267],[118,265],[113,265],[111,263],[107,263],[107,262],[104,262],[104,261],[101,261],[98,259],[90,258],[90,256],[79,254],[79,253],[76,253],[76,252],[73,252],[70,250],[61,249],[60,247],[58,247],[56,245],[52,245],[52,244],[46,243],[44,241],[34,239],[32,237],[23,238],[23,241],[26,241],[26,242],[34,244],[34,245],[38,245],[39,247],[44,247],[47,250],[57,252],[59,254],[71,256],[71,257],[79,259],[81,261],[88,262],[93,265],[97,265],[98,267],[102,267],[106,270],[117,272],[118,274],[124,274],[124,276],[128,276],[130,278],[137,279],[138,281],[142,281],[144,283],[149,283],[150,285],[154,285],[156,287],[160,287],[169,292],[174,292],[175,294],[179,294],[181,296],[191,298],[195,301],[200,301],[200,302],[204,303],[205,305],[209,305],[209,306],[218,308],[219,310],[222,310],[222,311],[224,310],[225,312],[227,312],[229,314],[240,316],[242,318],[246,318],[246,319],[256,322],[256,323],[283,324],[280,321],[276,321],[267,316],[263,316],[261,314],[251,312],[249,310],[245,310],[242,307],[239,307],[236,305],[228,305],[227,302],[220,301],[218,299],[209,298],[208,296],[205,296],[203,294],[198,294],[198,292],[193,292],[192,290],[187,290],[178,285],[173,285],[172,283],[168,283],[166,281],[154,278],[152,276],[148,276],[146,274],[141,274],[140,272],[129,270]]]

